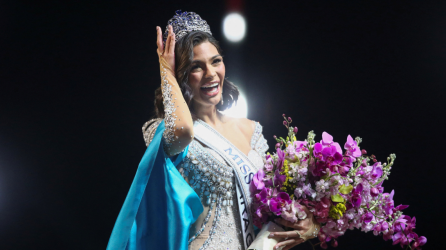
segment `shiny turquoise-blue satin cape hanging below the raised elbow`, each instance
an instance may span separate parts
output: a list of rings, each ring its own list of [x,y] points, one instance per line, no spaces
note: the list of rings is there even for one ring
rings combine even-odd
[[[197,193],[176,169],[189,147],[174,162],[162,145],[162,121],[138,166],[116,220],[107,250],[188,248],[189,228],[203,212]]]

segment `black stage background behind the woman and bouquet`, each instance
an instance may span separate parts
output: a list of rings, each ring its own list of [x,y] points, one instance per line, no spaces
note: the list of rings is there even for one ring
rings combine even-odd
[[[446,2],[245,1],[238,45],[221,32],[237,1],[37,2],[0,2],[0,249],[105,249],[145,151],[155,26],[177,9],[208,21],[271,148],[285,113],[301,139],[396,153],[386,191],[442,248]],[[400,247],[348,231],[338,248]]]

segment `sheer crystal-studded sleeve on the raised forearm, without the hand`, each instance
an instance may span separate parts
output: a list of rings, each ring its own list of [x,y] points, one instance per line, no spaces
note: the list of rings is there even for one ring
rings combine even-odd
[[[183,151],[192,141],[193,120],[172,69],[160,57],[161,91],[163,93],[164,150],[170,156]]]

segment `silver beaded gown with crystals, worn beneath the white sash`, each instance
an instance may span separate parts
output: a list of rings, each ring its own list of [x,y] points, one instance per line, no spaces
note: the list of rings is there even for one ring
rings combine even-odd
[[[147,145],[156,126],[155,122],[143,129]],[[256,171],[263,167],[266,150],[268,145],[262,135],[262,126],[256,122],[248,154]],[[204,207],[190,228],[189,250],[244,249],[232,167],[217,152],[194,139],[178,170],[197,192]]]

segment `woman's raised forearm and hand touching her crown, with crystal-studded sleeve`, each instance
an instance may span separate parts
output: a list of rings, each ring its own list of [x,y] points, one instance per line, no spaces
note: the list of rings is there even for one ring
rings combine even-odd
[[[175,79],[175,34],[169,26],[169,36],[164,48],[161,28],[157,27],[158,56],[161,71],[161,90],[164,104],[164,150],[170,156],[183,151],[192,141],[193,120],[189,107]]]

